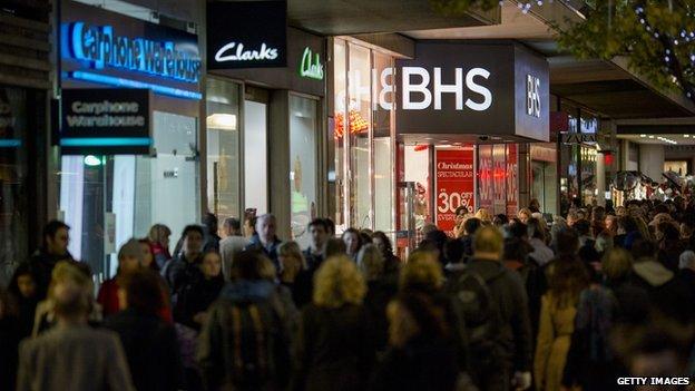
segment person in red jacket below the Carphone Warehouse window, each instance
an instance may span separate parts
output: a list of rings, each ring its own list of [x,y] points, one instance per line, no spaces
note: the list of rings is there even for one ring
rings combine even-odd
[[[118,270],[116,276],[105,281],[99,287],[97,302],[101,305],[104,316],[109,316],[121,310],[118,290],[124,276],[137,272],[143,267],[143,250],[140,243],[131,238],[118,250]]]

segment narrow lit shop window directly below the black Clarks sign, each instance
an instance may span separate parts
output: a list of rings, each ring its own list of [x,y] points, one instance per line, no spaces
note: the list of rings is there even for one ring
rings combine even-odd
[[[239,85],[207,80],[207,209],[239,218]]]

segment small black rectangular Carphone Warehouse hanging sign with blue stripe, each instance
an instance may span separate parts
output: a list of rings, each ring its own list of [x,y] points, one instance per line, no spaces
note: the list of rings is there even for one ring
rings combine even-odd
[[[150,91],[136,88],[63,89],[63,155],[149,154]]]

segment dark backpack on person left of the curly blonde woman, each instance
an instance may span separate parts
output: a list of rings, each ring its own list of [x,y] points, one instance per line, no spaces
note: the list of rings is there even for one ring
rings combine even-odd
[[[274,379],[276,323],[266,303],[233,303],[224,345],[227,380],[233,389],[257,390]]]

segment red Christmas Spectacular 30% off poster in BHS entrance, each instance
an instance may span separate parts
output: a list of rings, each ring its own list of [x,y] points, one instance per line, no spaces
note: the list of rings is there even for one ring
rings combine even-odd
[[[435,150],[437,226],[453,234],[456,209],[463,205],[469,212],[476,208],[473,196],[473,146]]]

